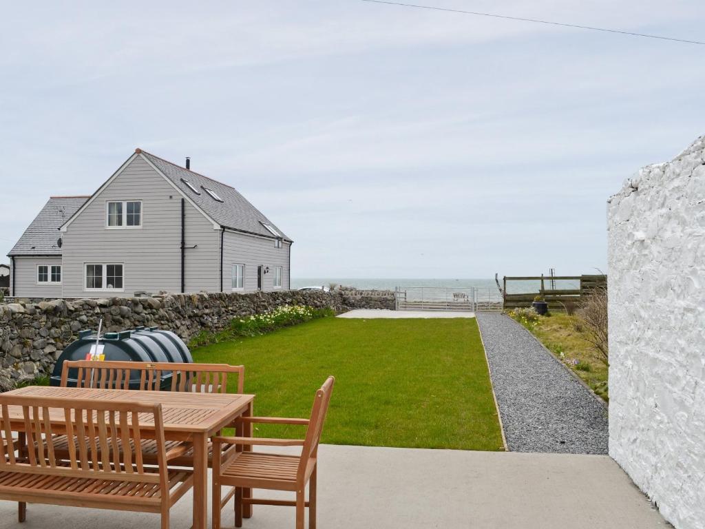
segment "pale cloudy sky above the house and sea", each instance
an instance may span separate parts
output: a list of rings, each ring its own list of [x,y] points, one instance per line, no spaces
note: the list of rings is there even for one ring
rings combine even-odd
[[[701,0],[419,0],[705,40]],[[607,270],[606,200],[705,133],[705,46],[360,0],[12,2],[0,262],[135,147],[234,186],[294,277]]]

